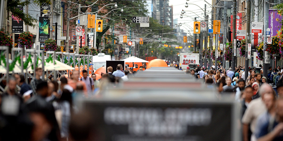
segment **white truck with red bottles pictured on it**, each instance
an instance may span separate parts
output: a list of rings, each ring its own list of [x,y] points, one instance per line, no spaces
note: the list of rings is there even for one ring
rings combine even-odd
[[[200,54],[198,53],[180,53],[179,65],[186,69],[189,64],[200,64]]]

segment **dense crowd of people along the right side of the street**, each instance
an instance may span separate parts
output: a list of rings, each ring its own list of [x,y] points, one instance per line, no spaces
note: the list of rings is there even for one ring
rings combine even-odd
[[[256,73],[249,68],[247,80],[245,66],[235,71],[218,65],[218,69],[198,67],[185,72],[208,86],[215,85],[221,94],[235,95],[235,101],[242,105],[243,141],[283,140],[283,70],[269,67],[268,78],[262,76],[262,70]]]

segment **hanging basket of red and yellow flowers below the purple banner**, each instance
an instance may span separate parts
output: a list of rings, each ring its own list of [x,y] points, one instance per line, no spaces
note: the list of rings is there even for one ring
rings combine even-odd
[[[278,36],[273,36],[272,37],[272,43],[271,44],[266,44],[266,51],[270,53],[270,57],[273,59],[273,55],[277,54],[281,57],[280,54],[280,46],[279,46],[279,40],[280,38]]]

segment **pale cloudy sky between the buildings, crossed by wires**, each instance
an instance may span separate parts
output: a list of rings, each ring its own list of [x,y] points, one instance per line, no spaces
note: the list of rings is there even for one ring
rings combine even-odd
[[[211,0],[206,0],[209,4],[211,4]],[[186,2],[188,3],[188,7],[185,7]],[[192,28],[193,26],[193,19],[194,17],[201,17],[204,18],[204,5],[206,4],[206,10],[208,12],[211,12],[211,6],[207,4],[204,0],[169,0],[169,5],[173,5],[173,19],[177,19],[178,23],[182,23],[182,26],[180,27],[187,33],[192,34]],[[195,5],[192,5],[195,4]],[[196,6],[197,5],[197,6]],[[199,7],[198,7],[199,6]],[[185,11],[185,14],[183,15],[183,18],[181,19],[181,11],[182,9]],[[202,9],[202,10],[201,10]],[[209,14],[209,17],[211,17],[211,14]],[[201,18],[197,18],[197,20],[203,20]]]

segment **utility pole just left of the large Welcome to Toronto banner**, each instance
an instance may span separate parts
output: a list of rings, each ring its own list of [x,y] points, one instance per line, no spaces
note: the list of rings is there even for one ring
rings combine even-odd
[[[247,5],[247,12],[246,12],[247,13],[246,14],[246,16],[247,16],[247,24],[246,24],[245,80],[247,80],[247,78],[248,78],[248,63],[249,63],[249,59],[248,59],[248,48],[247,47],[248,47],[248,43],[250,41],[250,3],[251,3],[251,0],[247,0],[247,3],[248,3],[248,5]],[[264,15],[264,17],[266,17],[266,16],[267,16],[267,19],[265,19],[265,18],[264,19],[267,21],[268,20],[268,14]],[[266,38],[263,38],[263,39],[265,39],[265,41],[266,41]],[[263,50],[265,50],[265,49],[263,49]],[[267,72],[267,69],[265,69],[265,70]],[[264,68],[263,68],[263,76],[264,76]],[[266,77],[267,77],[267,75],[266,75]]]

